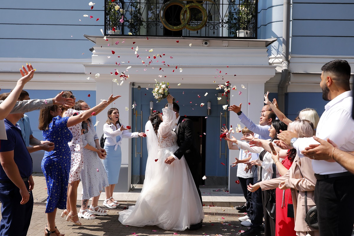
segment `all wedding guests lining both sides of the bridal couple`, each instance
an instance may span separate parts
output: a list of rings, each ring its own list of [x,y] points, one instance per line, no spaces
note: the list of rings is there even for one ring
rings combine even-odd
[[[321,119],[314,109],[304,109],[291,121],[264,95],[259,124],[252,122],[239,106],[230,111],[239,116],[242,137],[237,140],[224,127],[229,149],[240,150],[235,158],[237,176],[246,198],[246,215],[239,218],[250,229],[241,235],[351,235],[354,224],[354,121],[349,87],[350,66],[334,60],[322,67],[320,86],[325,106]],[[98,206],[116,208],[113,198],[121,165],[123,138],[146,137],[129,131],[110,108],[103,128],[101,146],[92,116],[102,112],[120,96],[113,94],[91,108],[76,101],[71,91],[55,98],[32,99],[23,86],[33,78],[32,65],[22,67],[22,78],[10,93],[0,94],[0,223],[1,235],[26,235],[32,217],[34,181],[29,153],[44,150],[41,162],[47,184],[45,235],[61,234],[56,227],[57,208],[75,225],[79,218],[95,219],[108,212]],[[40,110],[39,129],[43,141],[33,137],[24,113]],[[315,136],[314,136],[315,135]],[[82,182],[82,204],[76,208],[78,185]],[[11,196],[11,197],[9,197]],[[89,200],[92,199],[90,206]],[[316,206],[318,223],[305,220]],[[264,224],[263,224],[264,218]]]

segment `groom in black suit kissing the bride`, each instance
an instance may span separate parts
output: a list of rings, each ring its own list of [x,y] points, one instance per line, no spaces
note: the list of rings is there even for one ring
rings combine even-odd
[[[167,108],[167,105],[168,104],[166,104],[165,108]],[[190,173],[192,173],[195,186],[198,190],[200,202],[202,203],[199,190],[199,165],[201,162],[201,157],[198,149],[194,146],[193,122],[185,117],[179,116],[179,106],[175,102],[173,102],[173,111],[176,113],[174,131],[177,134],[177,144],[179,148],[172,154],[172,156],[167,157],[165,163],[171,164],[173,161],[181,159],[184,155],[190,169]],[[191,225],[189,230],[197,230],[199,228],[201,228],[201,223]]]

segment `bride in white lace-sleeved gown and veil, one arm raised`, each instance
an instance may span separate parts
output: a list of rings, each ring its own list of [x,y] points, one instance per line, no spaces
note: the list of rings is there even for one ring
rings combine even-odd
[[[157,225],[164,230],[183,231],[204,218],[200,198],[184,157],[171,165],[165,160],[177,149],[177,135],[172,131],[176,114],[169,94],[168,108],[149,116],[145,125],[148,160],[145,180],[135,206],[119,213],[125,225]]]

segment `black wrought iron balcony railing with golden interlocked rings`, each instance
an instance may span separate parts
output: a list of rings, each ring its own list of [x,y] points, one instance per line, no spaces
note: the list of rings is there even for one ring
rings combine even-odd
[[[105,35],[257,38],[258,0],[105,0]]]

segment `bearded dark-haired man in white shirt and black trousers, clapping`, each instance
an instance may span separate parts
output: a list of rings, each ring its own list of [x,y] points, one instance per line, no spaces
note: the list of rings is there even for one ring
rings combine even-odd
[[[320,86],[322,98],[330,100],[325,105],[316,129],[320,139],[331,139],[342,151],[354,151],[354,120],[352,119],[352,92],[349,87],[350,65],[344,60],[334,60],[322,68]],[[284,131],[278,138],[285,144],[301,151],[311,144],[313,138],[297,138],[295,133]],[[317,179],[315,203],[321,236],[352,235],[354,224],[354,175],[335,160],[314,160],[312,167]]]

